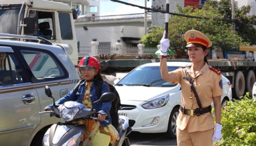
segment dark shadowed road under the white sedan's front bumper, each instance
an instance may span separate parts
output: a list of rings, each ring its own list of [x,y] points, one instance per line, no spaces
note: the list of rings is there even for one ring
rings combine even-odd
[[[142,134],[137,132],[132,132],[128,135],[130,140],[130,145],[132,146],[163,146],[163,145],[177,145],[176,139],[166,138],[164,134]]]

